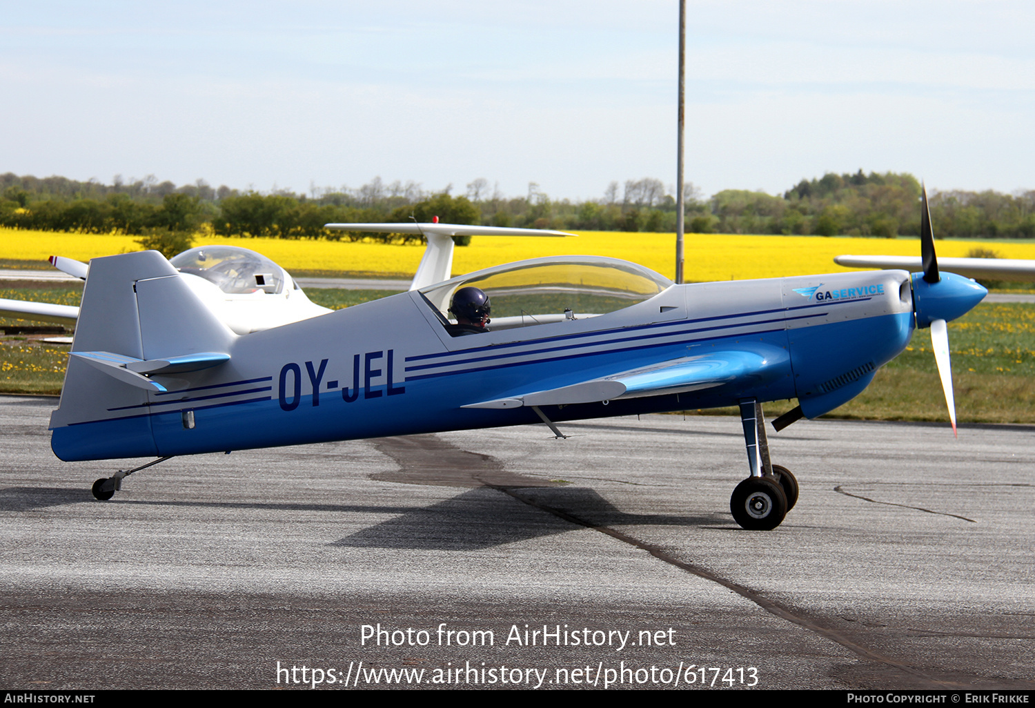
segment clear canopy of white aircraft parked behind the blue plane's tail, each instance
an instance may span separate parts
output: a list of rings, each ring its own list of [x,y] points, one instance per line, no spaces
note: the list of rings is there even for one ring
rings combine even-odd
[[[240,246],[198,246],[173,257],[170,263],[181,273],[203,277],[231,295],[280,293],[287,282],[280,266]]]

